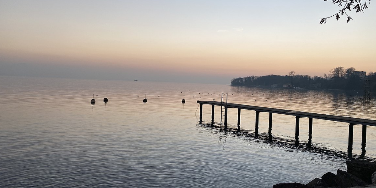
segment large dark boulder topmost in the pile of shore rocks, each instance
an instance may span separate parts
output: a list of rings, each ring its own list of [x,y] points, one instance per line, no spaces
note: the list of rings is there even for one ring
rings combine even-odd
[[[346,161],[347,172],[371,184],[371,176],[376,171],[376,162],[363,160]]]

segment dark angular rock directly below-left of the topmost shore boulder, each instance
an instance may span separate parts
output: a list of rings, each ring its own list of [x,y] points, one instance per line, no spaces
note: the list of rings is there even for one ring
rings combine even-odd
[[[341,188],[353,187],[359,185],[367,185],[368,183],[359,177],[354,176],[343,170],[337,170],[337,176],[335,177],[335,182]]]

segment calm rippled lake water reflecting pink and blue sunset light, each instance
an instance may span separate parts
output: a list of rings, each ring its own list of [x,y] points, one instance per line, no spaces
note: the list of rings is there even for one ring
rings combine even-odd
[[[346,170],[348,125],[314,120],[307,149],[308,118],[300,120],[300,146],[293,146],[295,118],[221,109],[197,100],[220,101],[376,119],[375,100],[342,91],[246,88],[191,83],[0,77],[1,187],[271,187],[308,183],[326,172]],[[103,103],[107,93],[108,103]],[[91,105],[92,94],[96,104]],[[145,97],[148,102],[143,103]],[[98,97],[96,96],[98,95]],[[181,103],[183,97],[185,104]],[[197,111],[197,112],[196,112]],[[376,158],[375,127],[361,150],[354,127],[354,158]]]

